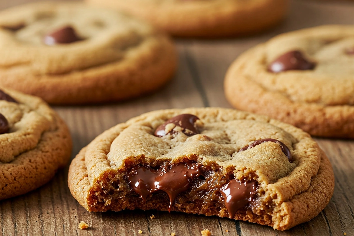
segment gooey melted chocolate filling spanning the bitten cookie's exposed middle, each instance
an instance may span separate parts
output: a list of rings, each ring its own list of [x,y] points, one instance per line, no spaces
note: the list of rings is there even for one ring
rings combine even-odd
[[[166,162],[159,169],[150,166],[135,166],[126,173],[132,191],[139,194],[144,202],[154,198],[157,191],[164,191],[170,198],[169,211],[179,194],[192,194],[192,188],[198,192],[198,186],[206,182],[208,191],[218,192],[217,200],[229,211],[230,218],[236,212],[254,201],[258,184],[255,180],[224,180],[217,184],[215,179],[222,179],[221,173],[212,173],[206,167],[195,162],[171,165]],[[232,176],[232,175],[231,175]],[[198,177],[202,177],[199,179]],[[193,182],[193,187],[191,186]],[[192,194],[193,195],[193,194]],[[222,196],[221,196],[222,195]],[[207,197],[205,197],[207,200]]]

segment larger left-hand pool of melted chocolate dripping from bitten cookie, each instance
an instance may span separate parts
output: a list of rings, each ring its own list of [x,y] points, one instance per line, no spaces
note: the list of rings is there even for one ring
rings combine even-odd
[[[148,195],[162,190],[170,197],[169,212],[176,196],[187,191],[190,182],[195,177],[202,175],[197,163],[179,163],[171,166],[161,166],[159,170],[150,167],[134,167],[127,174],[130,187],[146,201]]]

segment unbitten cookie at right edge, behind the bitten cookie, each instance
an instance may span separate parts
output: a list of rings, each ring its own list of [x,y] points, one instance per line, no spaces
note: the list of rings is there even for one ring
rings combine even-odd
[[[314,136],[354,138],[353,29],[302,29],[251,48],[229,68],[226,98]]]

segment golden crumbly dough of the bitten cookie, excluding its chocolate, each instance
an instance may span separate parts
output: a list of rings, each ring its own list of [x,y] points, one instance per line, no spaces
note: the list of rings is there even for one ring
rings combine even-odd
[[[204,131],[181,143],[177,141],[171,151],[162,151],[165,150],[164,143],[161,138],[152,135],[154,129],[167,119],[184,113],[198,116],[204,123]],[[223,126],[230,130],[225,131],[226,136],[223,131],[215,129]],[[235,130],[230,129],[231,127]],[[134,136],[131,132],[142,135],[138,135],[138,139],[137,136],[132,138],[137,145],[127,138]],[[204,136],[210,136],[211,141]],[[295,158],[293,163],[289,163],[280,148],[273,144],[267,145],[268,147],[258,145],[260,149],[255,147],[254,152],[241,154],[245,156],[233,153],[252,140],[265,136],[272,136],[286,143]],[[229,150],[229,153],[233,153],[231,159],[230,154],[227,154],[229,144],[235,148]],[[144,150],[143,156],[141,150]],[[263,157],[257,159],[259,154],[264,157],[263,160]],[[281,157],[274,159],[274,155]],[[119,184],[116,181],[134,163],[153,165],[159,160],[180,162],[183,158],[193,159],[205,166],[217,166],[216,171],[221,169],[225,176],[232,173],[238,179],[253,176],[257,180],[262,189],[259,190],[262,194],[259,195],[258,206],[262,207],[241,209],[235,215],[236,220],[248,220],[278,230],[290,229],[319,214],[333,194],[334,176],[331,164],[307,133],[265,116],[224,108],[153,111],[108,129],[83,148],[72,161],[68,184],[73,196],[88,211],[135,208],[166,211],[169,204],[162,194],[154,194],[146,202],[132,196],[114,195],[115,191],[116,194],[124,189],[130,191],[125,180],[120,179]],[[253,158],[254,161],[251,160]],[[263,161],[268,164],[263,165]],[[115,187],[107,188],[108,185]],[[131,200],[127,200],[129,198]],[[183,196],[179,195],[172,210],[229,217],[225,206],[215,209],[215,202],[212,205],[204,204],[206,207],[203,204],[199,206],[198,203],[186,203]]]

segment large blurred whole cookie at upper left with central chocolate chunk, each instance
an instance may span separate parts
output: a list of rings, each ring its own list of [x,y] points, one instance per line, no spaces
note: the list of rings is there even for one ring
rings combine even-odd
[[[52,104],[141,96],[173,75],[172,42],[123,13],[78,2],[0,12],[0,85]]]

